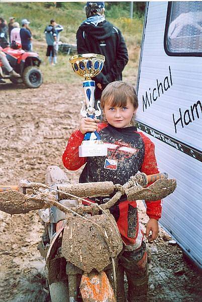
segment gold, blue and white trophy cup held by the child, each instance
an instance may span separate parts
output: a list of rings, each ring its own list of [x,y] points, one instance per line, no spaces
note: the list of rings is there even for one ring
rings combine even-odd
[[[95,110],[95,82],[91,78],[95,77],[103,69],[105,56],[102,54],[84,53],[70,57],[69,61],[74,72],[85,78],[85,81],[83,81],[85,101],[81,101],[80,114],[83,117],[91,118],[99,116],[102,113],[99,107],[100,101],[97,102],[97,110]],[[107,145],[102,142],[97,131],[87,132],[78,147],[78,153],[79,157],[107,156]]]

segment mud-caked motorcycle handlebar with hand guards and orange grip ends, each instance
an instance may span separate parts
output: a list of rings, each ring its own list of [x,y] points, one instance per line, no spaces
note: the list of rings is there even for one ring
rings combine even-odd
[[[163,178],[164,178],[164,180],[163,180]],[[166,191],[165,189],[170,187],[170,189],[168,190],[169,191],[168,194],[170,194],[174,191],[174,189],[176,187],[176,181],[165,179],[165,178],[168,178],[168,175],[166,173],[153,174],[153,175],[148,175],[148,176],[145,173],[137,173],[136,175],[132,176],[129,179],[129,181],[126,184],[124,184],[123,186],[114,185],[112,182],[110,182],[111,183],[110,190],[112,189],[112,192],[114,192],[114,190],[117,190],[117,192],[107,203],[101,204],[98,207],[102,210],[111,208],[125,193],[127,194],[127,196],[130,195],[131,198],[134,198],[131,200],[136,200],[137,199],[136,197],[139,197],[139,199],[149,199],[149,198],[142,198],[142,197],[153,196],[152,194],[154,194],[153,192],[156,190],[156,187],[158,187],[157,189],[159,189],[160,193],[165,192]],[[158,182],[158,180],[160,180],[160,179],[162,182]],[[158,182],[158,185],[155,185],[156,180]],[[154,182],[154,184],[151,185],[152,188],[149,189],[150,186],[147,188],[144,188],[144,186],[146,186],[149,182]],[[103,192],[104,189],[106,190],[106,188],[103,187],[103,186],[105,186],[105,183],[97,183],[100,186],[100,192]],[[28,182],[27,187],[26,187],[26,181],[23,184],[24,184],[23,186],[21,186],[21,184],[20,184],[20,186],[10,186],[10,185],[0,186],[0,192],[2,192],[2,193],[0,193],[0,209],[1,210],[5,211],[7,213],[11,213],[11,214],[19,214],[19,213],[28,212],[30,210],[48,208],[48,207],[55,205],[56,207],[58,207],[60,210],[62,210],[65,213],[68,213],[69,211],[71,211],[69,207],[66,207],[66,206],[62,205],[61,203],[59,203],[59,201],[56,201],[55,194],[52,193],[52,191],[47,191],[47,189],[49,187],[47,187],[46,185],[41,184],[41,183]],[[91,184],[91,186],[92,186],[93,183],[89,183],[89,184]],[[76,185],[78,186],[78,184],[76,184]],[[86,185],[86,187],[87,187],[88,184],[86,183],[83,185]],[[73,187],[68,192],[68,193],[70,193],[70,195],[71,195],[72,190],[73,189],[75,190],[74,185],[72,185],[72,186]],[[26,194],[26,188],[30,188],[30,189],[39,188],[40,190],[39,190],[39,193],[37,193],[38,190],[36,189],[36,193],[34,193],[34,195],[30,196],[30,193],[28,195]],[[42,188],[45,188],[45,190],[44,191],[41,190]],[[103,190],[102,190],[102,188],[103,188]],[[18,194],[15,193],[15,190],[21,191],[21,189],[23,189],[22,192],[18,192]],[[60,193],[60,192],[64,193],[65,197],[68,196],[68,193],[66,193],[64,191],[60,191],[60,190],[54,189],[54,188],[49,188],[49,189],[56,190],[56,191],[58,191],[58,193]],[[15,209],[13,209],[13,208],[11,209],[10,203],[7,204],[5,202],[8,200],[8,197],[4,191],[9,191],[9,190],[11,191],[10,195],[8,195],[9,198],[12,198],[12,196],[14,196],[14,199],[16,201],[18,201],[18,198],[19,198],[19,200],[21,200],[21,202],[16,203]],[[76,192],[78,192],[78,190]],[[112,192],[110,191],[110,194]],[[141,195],[140,194],[141,192],[143,192],[143,193],[145,192],[145,194]],[[150,195],[148,194],[148,192]],[[139,195],[137,195],[137,193]],[[163,194],[163,195],[167,196],[166,194]],[[59,195],[57,195],[57,196],[59,196]],[[78,198],[77,194],[75,194],[75,196],[73,196],[73,195],[71,195],[71,196],[75,197],[74,199]],[[85,198],[85,200],[86,200],[87,197],[90,198],[90,196],[93,196],[93,195],[85,194],[84,196],[85,197],[82,197],[82,198],[79,197],[79,198],[81,198],[81,199]],[[98,195],[98,196],[100,196],[100,195]],[[104,195],[104,196],[107,196],[107,195]],[[68,197],[66,197],[66,198],[68,198]],[[162,197],[162,198],[164,198],[164,197]],[[161,199],[161,198],[159,198],[159,199]],[[61,200],[61,199],[59,199],[59,200]],[[153,199],[149,199],[149,200],[153,200]],[[85,206],[84,205],[82,205],[82,206],[84,207],[82,212],[84,212]],[[78,207],[78,209],[76,208],[75,211],[79,210],[80,205],[77,205],[76,207]],[[75,211],[74,211],[74,213],[75,213]]]

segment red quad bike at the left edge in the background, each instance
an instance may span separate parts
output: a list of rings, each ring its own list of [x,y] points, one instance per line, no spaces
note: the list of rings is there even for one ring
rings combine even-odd
[[[16,43],[12,47],[8,46],[2,49],[2,51],[6,54],[10,65],[21,77],[12,77],[0,60],[0,78],[9,79],[15,84],[24,83],[28,88],[38,88],[41,86],[43,76],[39,69],[41,60],[38,53],[26,52],[23,49],[19,49],[21,47],[19,43]]]

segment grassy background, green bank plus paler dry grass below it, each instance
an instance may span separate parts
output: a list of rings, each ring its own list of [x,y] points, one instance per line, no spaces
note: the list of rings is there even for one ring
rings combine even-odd
[[[0,3],[0,16],[9,20],[14,16],[16,21],[21,23],[22,19],[30,21],[30,28],[33,34],[34,51],[37,51],[42,59],[41,70],[44,74],[44,83],[82,83],[77,77],[69,63],[69,56],[58,54],[58,64],[55,66],[45,64],[46,42],[44,29],[50,19],[55,19],[58,24],[63,25],[64,30],[60,39],[64,43],[76,44],[76,31],[81,22],[86,19],[83,2],[57,3]],[[125,38],[129,52],[129,63],[124,69],[124,79],[135,85],[140,45],[142,39],[143,17],[134,14],[129,18],[130,3],[106,3],[106,19],[117,26]]]

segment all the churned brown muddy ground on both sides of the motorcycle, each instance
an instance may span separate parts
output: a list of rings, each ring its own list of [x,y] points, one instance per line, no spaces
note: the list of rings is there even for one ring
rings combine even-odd
[[[44,182],[47,166],[63,168],[61,155],[77,126],[82,99],[79,81],[73,91],[63,84],[36,90],[9,82],[0,86],[2,184]],[[78,181],[80,171],[66,172],[72,183]],[[139,206],[144,227],[148,218],[142,203]],[[37,211],[12,217],[0,212],[0,301],[43,301],[44,260],[37,250],[42,232]],[[169,240],[160,229],[159,238],[149,245],[149,301],[202,301],[199,272]]]

